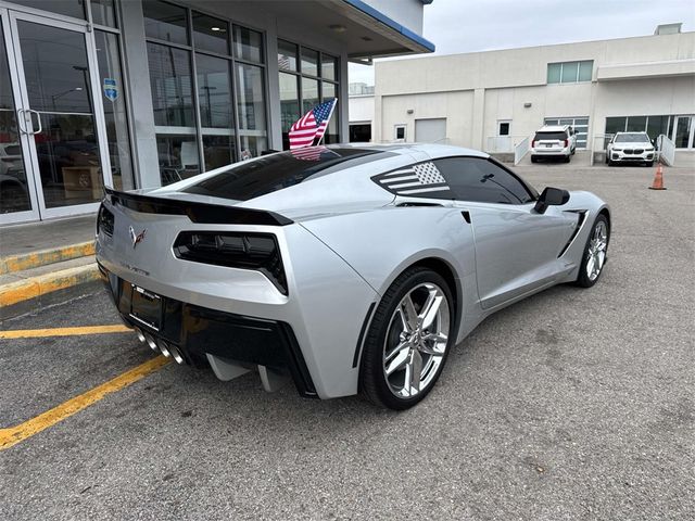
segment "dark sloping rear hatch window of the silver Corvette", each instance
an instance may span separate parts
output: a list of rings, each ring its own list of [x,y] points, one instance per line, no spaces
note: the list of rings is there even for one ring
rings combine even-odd
[[[235,165],[226,171],[188,187],[184,192],[249,201],[301,182],[371,161],[390,152],[348,148],[307,148],[282,152]]]

